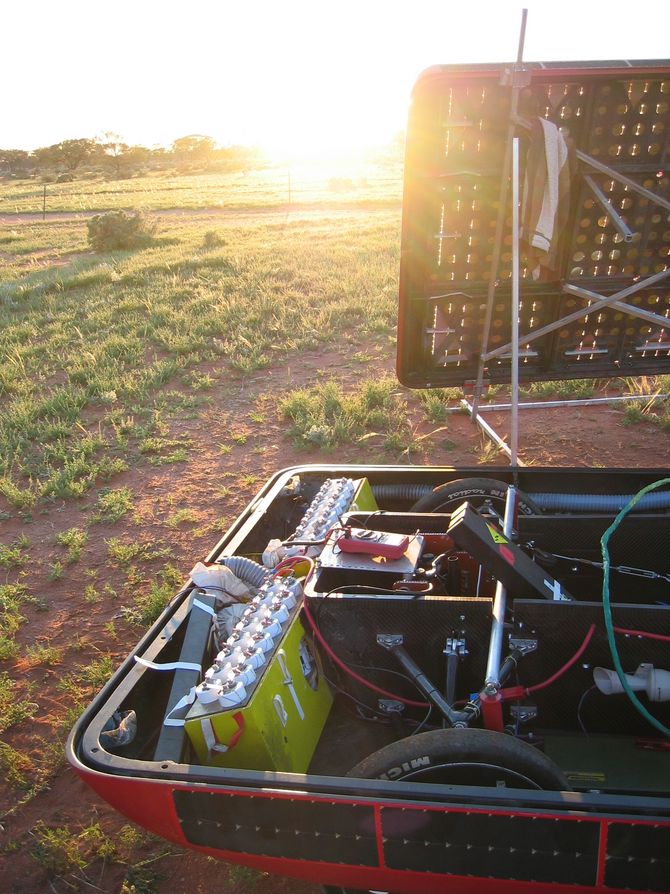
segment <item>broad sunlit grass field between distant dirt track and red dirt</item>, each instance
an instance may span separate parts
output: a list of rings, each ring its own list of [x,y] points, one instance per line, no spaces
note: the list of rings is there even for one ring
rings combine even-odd
[[[139,414],[197,411],[217,367],[260,369],[343,330],[361,343],[393,332],[397,211],[361,220],[353,242],[346,219],[282,218],[204,254],[206,220],[162,226],[154,247],[104,257],[73,258],[87,252],[77,221],[5,245],[18,267],[0,283],[0,494],[14,509],[82,497],[138,453],[186,461],[189,440],[153,440],[170,439],[143,434]],[[20,271],[42,256],[57,266]]]

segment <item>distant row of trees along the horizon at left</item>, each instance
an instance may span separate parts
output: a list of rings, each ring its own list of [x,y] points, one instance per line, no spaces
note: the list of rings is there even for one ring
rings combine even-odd
[[[0,149],[0,176],[74,180],[85,171],[97,170],[114,177],[131,177],[147,170],[198,171],[208,168],[249,170],[262,163],[258,149],[248,146],[217,146],[208,136],[191,134],[170,147],[147,149],[131,146],[118,134],[96,139],[63,140],[29,152]]]

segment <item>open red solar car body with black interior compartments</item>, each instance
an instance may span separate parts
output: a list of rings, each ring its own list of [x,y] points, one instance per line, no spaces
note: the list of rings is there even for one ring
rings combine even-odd
[[[274,721],[285,742],[273,748],[270,765],[256,766],[255,758],[251,766],[235,766],[225,751],[204,762],[184,727],[164,726],[175,688],[181,686],[186,694],[215,657],[202,635],[202,617],[208,616],[191,608],[194,595],[206,602],[206,594],[194,593],[193,585],[173,600],[80,718],[68,742],[69,759],[102,797],[151,831],[284,875],[399,892],[418,886],[442,891],[450,880],[459,892],[511,892],[529,885],[547,891],[563,886],[667,891],[668,740],[626,694],[605,695],[594,686],[594,668],[609,670],[613,664],[602,571],[585,563],[601,561],[600,538],[616,510],[594,510],[593,500],[582,500],[578,510],[542,509],[543,502],[551,504],[551,494],[632,495],[663,477],[659,470],[532,468],[513,473],[482,467],[303,466],[280,472],[217,544],[209,562],[258,560],[268,541],[293,534],[324,482],[365,479],[379,510],[348,507],[353,511],[345,512],[345,523],[407,535],[405,555],[412,553],[413,543],[416,570],[398,574],[394,560],[372,560],[371,565],[369,557],[356,553],[336,550],[333,555],[331,550],[324,556],[323,545],[313,549],[316,565],[304,590],[320,638],[298,594],[277,646],[293,636],[296,655],[299,643],[300,661],[306,664],[291,663],[287,639],[281,673],[275,651],[259,674],[261,683],[254,684],[253,693],[260,691],[271,665],[279,673],[263,717],[260,709],[249,707],[251,701],[229,712],[239,718],[246,704],[246,719],[236,721],[235,742],[230,736],[227,740],[230,755],[244,747],[254,723],[261,728]],[[410,509],[423,492],[457,479],[517,484],[529,506],[519,514],[512,548],[523,547],[525,556],[541,559],[534,567],[572,598],[535,598],[509,588],[502,655],[515,648],[523,653],[517,654],[504,684],[509,700],[485,710],[480,704],[472,729],[445,733],[440,732],[440,712],[433,708],[429,714],[425,704],[420,706],[425,695],[379,637],[402,637],[410,659],[440,693],[451,685],[458,710],[482,692],[496,581],[486,561],[445,540],[454,507]],[[473,490],[471,504],[482,499]],[[499,533],[495,512],[502,514],[500,501],[484,503],[480,510],[486,523]],[[612,615],[627,674],[645,664],[670,669],[669,534],[669,508],[643,508],[627,515],[611,537]],[[430,570],[438,550],[447,553],[440,575],[426,576],[421,569]],[[298,633],[287,634],[289,628]],[[357,677],[335,663],[329,650]],[[445,654],[450,651],[451,658]],[[137,663],[136,656],[159,664],[195,662],[202,671],[156,671]],[[308,671],[318,677],[312,689],[323,693],[315,697],[318,707],[308,704],[309,687],[298,685],[304,683],[300,667],[305,679]],[[385,694],[370,691],[362,680]],[[670,701],[637,695],[657,721],[670,725]],[[110,717],[130,709],[137,714],[134,740],[104,747],[101,735],[104,740]],[[299,721],[296,710],[304,715]],[[423,753],[426,730],[437,738],[473,734],[483,741],[484,751],[475,758],[458,751],[440,763]],[[306,737],[313,747],[305,744]],[[489,740],[494,758],[486,750]],[[501,752],[498,761],[496,743],[503,740],[511,757]],[[346,775],[368,755],[399,741],[403,750],[395,753],[404,756],[375,773],[382,778]],[[517,763],[516,743],[557,768],[556,784],[546,783],[542,774],[553,771],[544,765],[534,776],[534,764],[524,763],[527,750]],[[294,747],[306,749],[304,772],[288,772],[286,755]],[[565,784],[559,785],[561,780]]]

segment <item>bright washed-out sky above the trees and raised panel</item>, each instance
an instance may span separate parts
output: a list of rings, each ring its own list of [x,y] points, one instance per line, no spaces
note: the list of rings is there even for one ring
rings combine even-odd
[[[0,147],[105,131],[167,145],[365,147],[429,65],[670,56],[667,0],[32,0],[6,4]]]

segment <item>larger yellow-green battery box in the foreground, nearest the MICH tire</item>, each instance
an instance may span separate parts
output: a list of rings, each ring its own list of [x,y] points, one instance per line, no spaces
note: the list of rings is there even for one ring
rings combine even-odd
[[[185,727],[203,764],[304,773],[333,697],[296,611],[245,701],[195,702]]]

